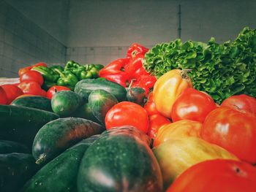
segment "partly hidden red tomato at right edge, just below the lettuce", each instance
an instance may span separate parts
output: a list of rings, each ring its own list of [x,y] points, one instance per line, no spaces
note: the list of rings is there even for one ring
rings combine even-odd
[[[245,94],[239,96],[230,96],[222,102],[221,106],[237,107],[241,110],[246,110],[256,115],[256,99]]]

